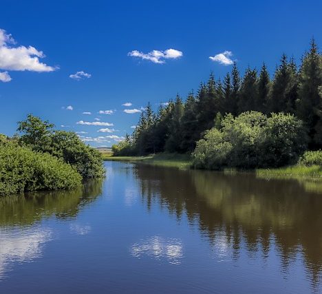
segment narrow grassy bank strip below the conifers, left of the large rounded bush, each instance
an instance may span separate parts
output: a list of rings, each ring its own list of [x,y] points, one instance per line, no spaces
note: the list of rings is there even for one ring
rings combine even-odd
[[[162,167],[176,167],[179,169],[189,169],[191,167],[191,157],[189,154],[153,154],[149,156],[109,156],[104,160],[116,160],[127,162],[142,162],[149,165]]]

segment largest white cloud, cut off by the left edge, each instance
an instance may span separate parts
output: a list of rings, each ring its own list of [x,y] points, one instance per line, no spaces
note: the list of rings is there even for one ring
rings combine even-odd
[[[36,50],[32,46],[23,45],[12,47],[16,42],[11,34],[0,29],[0,69],[17,70],[30,72],[53,72],[57,67],[52,67],[41,63],[39,59],[45,57],[42,51]],[[10,45],[11,44],[11,45]]]

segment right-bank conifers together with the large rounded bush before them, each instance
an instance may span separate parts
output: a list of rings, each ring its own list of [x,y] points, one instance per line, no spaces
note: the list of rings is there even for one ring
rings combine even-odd
[[[290,165],[305,149],[322,148],[321,97],[322,54],[312,40],[299,67],[283,54],[273,78],[265,64],[241,77],[235,63],[185,102],[177,95],[157,112],[148,104],[114,155],[193,152],[197,167],[212,169]]]

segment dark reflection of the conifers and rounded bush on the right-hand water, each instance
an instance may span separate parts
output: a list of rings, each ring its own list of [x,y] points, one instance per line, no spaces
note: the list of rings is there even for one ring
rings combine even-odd
[[[263,259],[277,250],[281,271],[301,260],[312,286],[322,269],[321,181],[266,180],[252,174],[180,171],[138,165],[142,197],[151,209],[166,207],[179,220],[186,216],[213,244],[217,254],[233,260],[241,251]]]

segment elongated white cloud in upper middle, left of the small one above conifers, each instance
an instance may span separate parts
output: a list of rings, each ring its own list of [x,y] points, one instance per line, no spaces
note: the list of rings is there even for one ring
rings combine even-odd
[[[132,57],[139,57],[140,59],[149,60],[153,63],[165,63],[164,59],[178,59],[182,57],[183,53],[175,49],[167,49],[165,51],[153,50],[149,53],[139,52],[133,50],[127,54]]]

